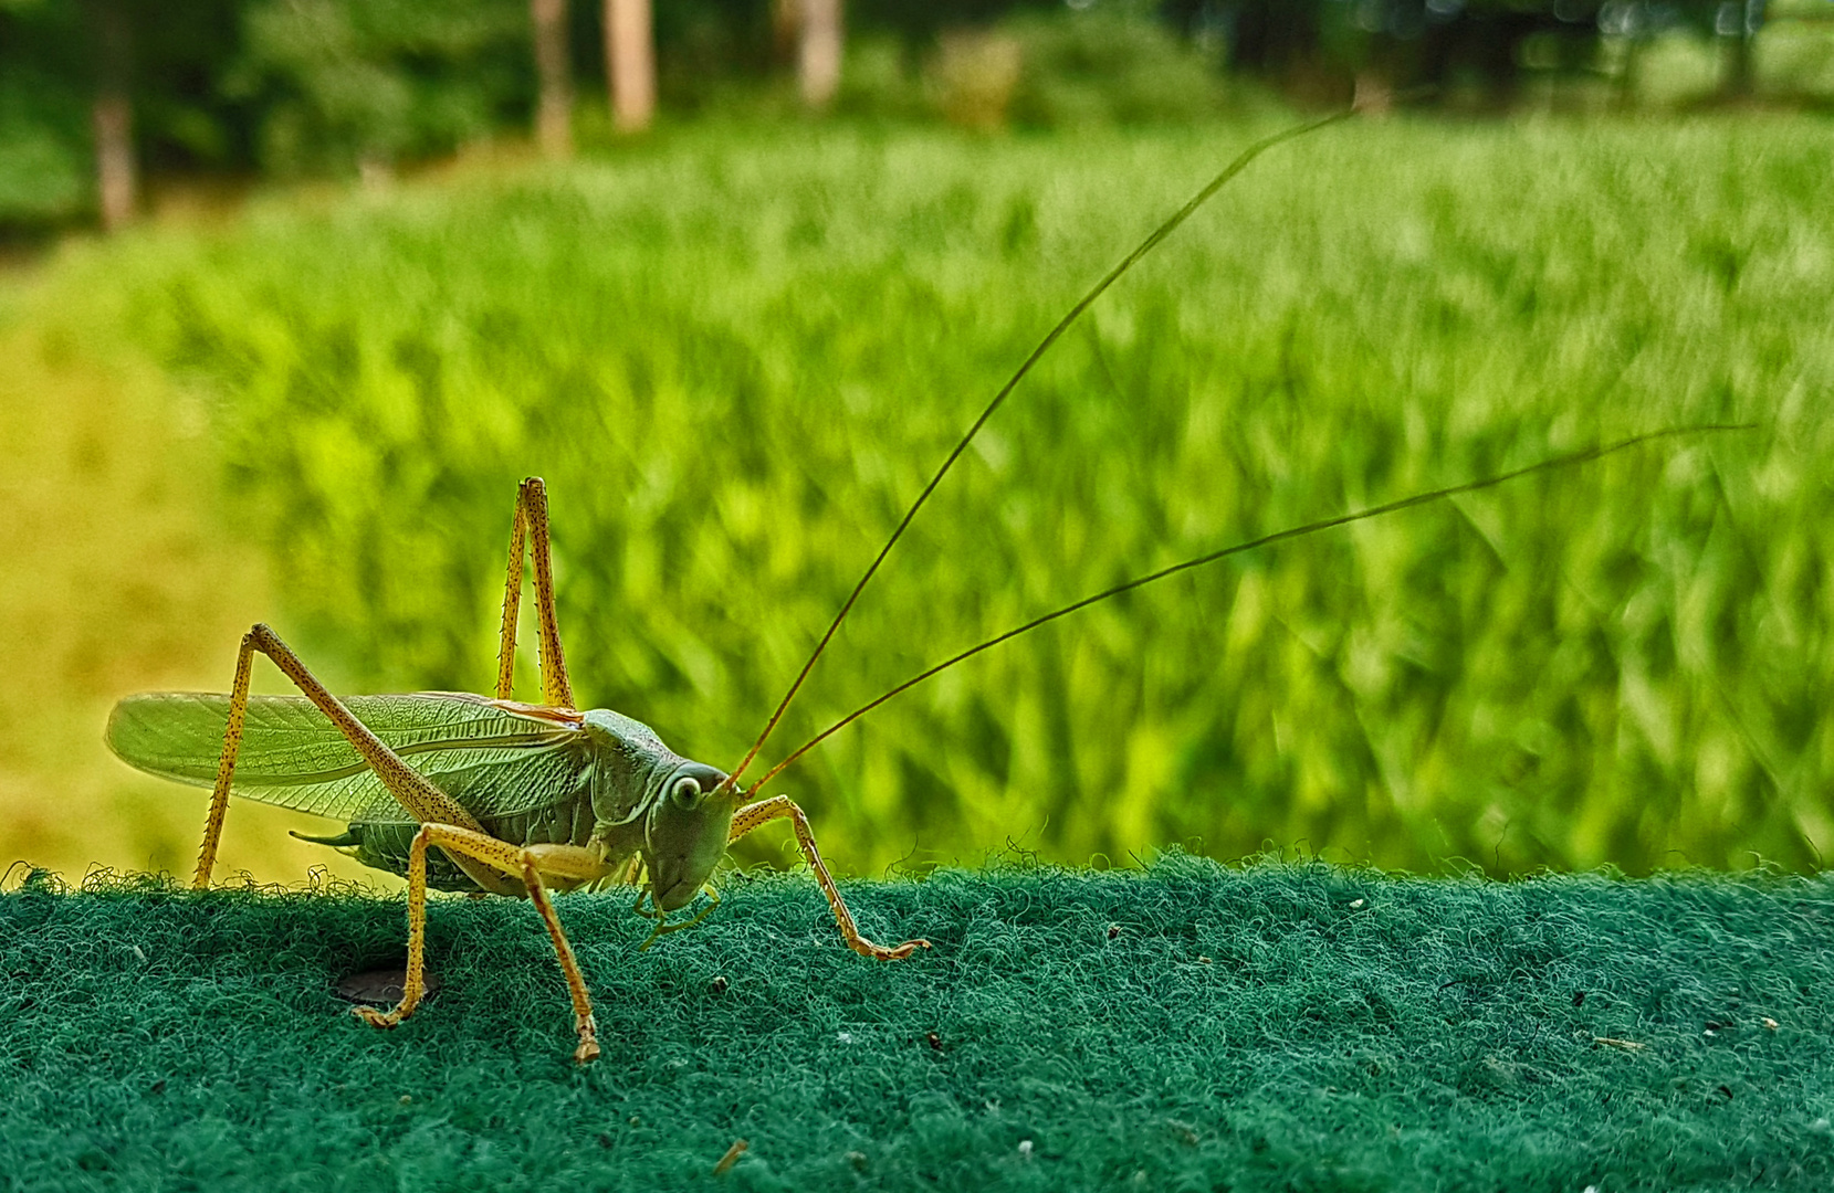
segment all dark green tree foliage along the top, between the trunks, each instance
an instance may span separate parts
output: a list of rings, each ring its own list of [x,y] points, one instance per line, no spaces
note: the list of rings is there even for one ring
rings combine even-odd
[[[0,227],[50,227],[94,207],[94,5],[0,0]],[[526,128],[534,104],[526,0],[108,0],[132,31],[134,145],[149,174],[350,172]],[[572,7],[581,103],[603,86],[600,5]],[[1069,11],[1078,9],[1078,11]],[[1133,9],[1135,20],[1122,20]],[[1154,40],[1155,13],[1203,55]],[[792,66],[772,0],[657,5],[662,104],[682,115]],[[1220,59],[1311,99],[1368,75],[1476,92],[1506,106],[1524,48],[1588,71],[1599,40],[1685,27],[1726,44],[1724,90],[1751,86],[1762,0],[853,0],[853,35],[906,57],[941,33],[1012,22],[1029,68],[1014,121],[1132,121],[1209,110],[1194,77]],[[1220,51],[1220,53],[1218,53]],[[1201,62],[1201,64],[1199,64]],[[915,88],[913,71],[899,86]],[[589,99],[591,97],[591,99]],[[1196,99],[1194,99],[1196,97]],[[730,106],[730,104],[728,104]],[[923,112],[924,104],[878,104]]]

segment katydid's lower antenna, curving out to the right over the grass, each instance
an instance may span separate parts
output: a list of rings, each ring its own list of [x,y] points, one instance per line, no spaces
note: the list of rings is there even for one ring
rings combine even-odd
[[[1500,486],[1500,484],[1506,484],[1509,480],[1517,480],[1520,476],[1530,476],[1533,473],[1548,473],[1548,471],[1561,469],[1561,467],[1572,467],[1572,465],[1579,465],[1579,464],[1590,464],[1594,460],[1601,460],[1603,456],[1610,456],[1614,453],[1627,451],[1630,447],[1636,447],[1640,443],[1649,443],[1652,440],[1667,440],[1667,438],[1676,438],[1676,436],[1684,436],[1684,434],[1711,434],[1711,432],[1718,432],[1718,431],[1753,431],[1755,427],[1757,427],[1757,423],[1700,423],[1700,425],[1693,425],[1693,427],[1667,427],[1663,431],[1647,431],[1643,434],[1634,434],[1634,436],[1630,436],[1627,440],[1618,440],[1616,443],[1605,443],[1605,445],[1599,445],[1599,447],[1586,447],[1583,451],[1566,453],[1563,456],[1552,456],[1552,458],[1542,460],[1539,464],[1530,464],[1526,467],[1511,469],[1508,473],[1497,473],[1495,476],[1482,476],[1478,480],[1467,480],[1464,484],[1447,486],[1443,489],[1432,489],[1431,493],[1416,493],[1414,497],[1403,497],[1399,500],[1385,502],[1381,506],[1370,506],[1368,509],[1355,509],[1352,513],[1341,513],[1341,515],[1331,517],[1331,519],[1319,519],[1317,522],[1306,522],[1304,526],[1291,526],[1287,530],[1276,530],[1271,535],[1262,535],[1258,539],[1249,539],[1245,542],[1236,542],[1234,546],[1225,546],[1225,548],[1221,548],[1218,552],[1209,552],[1205,555],[1198,555],[1196,559],[1187,559],[1185,563],[1176,563],[1176,564],[1172,564],[1168,568],[1159,568],[1157,572],[1152,572],[1148,575],[1141,575],[1141,577],[1130,579],[1130,581],[1126,581],[1122,585],[1115,585],[1113,588],[1104,588],[1104,590],[1100,590],[1100,592],[1097,592],[1093,596],[1086,596],[1080,601],[1071,601],[1069,605],[1066,605],[1062,608],[1056,608],[1056,610],[1051,610],[1051,612],[1044,614],[1042,618],[1033,618],[1031,621],[1027,621],[1023,625],[1016,625],[1016,627],[1012,627],[1011,630],[1007,630],[1003,634],[996,634],[996,636],[989,638],[987,641],[983,641],[979,645],[968,647],[967,651],[963,651],[959,654],[952,654],[950,658],[945,658],[941,663],[937,663],[937,665],[934,665],[934,667],[930,667],[926,671],[921,671],[921,673],[913,674],[911,678],[904,680],[902,684],[899,684],[897,687],[893,687],[886,695],[878,696],[877,700],[873,700],[869,704],[862,704],[860,707],[856,707],[855,711],[847,713],[845,717],[842,717],[840,720],[836,720],[829,728],[825,728],[820,733],[816,733],[803,746],[796,748],[787,759],[783,759],[781,762],[778,762],[776,766],[772,766],[768,772],[765,772],[765,777],[759,779],[757,783],[754,783],[752,790],[757,790],[763,784],[770,783],[779,773],[783,773],[783,770],[789,768],[790,762],[794,762],[796,759],[803,757],[805,753],[809,753],[811,750],[814,750],[816,746],[820,746],[822,742],[825,742],[829,737],[840,733],[842,729],[845,729],[847,726],[851,726],[855,720],[858,720],[860,717],[866,717],[867,713],[871,713],[873,709],[877,709],[880,704],[886,704],[893,696],[899,696],[899,695],[910,691],[911,687],[917,687],[924,680],[948,671],[956,663],[961,663],[965,660],[974,658],[981,651],[992,651],[994,647],[998,647],[1003,641],[1011,641],[1012,638],[1018,638],[1020,634],[1034,630],[1040,625],[1056,621],[1058,618],[1067,618],[1073,612],[1088,608],[1089,605],[1099,605],[1099,603],[1106,601],[1108,597],[1121,596],[1122,592],[1132,592],[1135,588],[1144,588],[1146,585],[1150,585],[1154,581],[1161,581],[1161,579],[1166,579],[1170,575],[1177,575],[1179,572],[1188,572],[1190,568],[1201,568],[1207,563],[1216,563],[1216,561],[1227,559],[1231,555],[1242,555],[1243,552],[1253,552],[1254,548],[1260,548],[1260,546],[1273,546],[1275,542],[1286,542],[1287,539],[1304,539],[1306,535],[1319,533],[1320,530],[1333,530],[1337,526],[1348,526],[1352,522],[1361,522],[1363,519],[1374,519],[1374,517],[1381,517],[1385,513],[1398,513],[1401,509],[1412,509],[1414,506],[1425,506],[1425,504],[1438,502],[1438,500],[1449,500],[1449,498],[1460,497],[1464,493],[1476,493],[1478,489],[1489,489],[1493,486]]]

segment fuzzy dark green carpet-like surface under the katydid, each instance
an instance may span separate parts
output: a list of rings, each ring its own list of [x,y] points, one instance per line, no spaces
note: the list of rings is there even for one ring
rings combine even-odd
[[[0,1189],[1830,1189],[1834,880],[1495,883],[1328,865],[732,876],[638,951],[440,900],[394,1032],[345,975],[400,900],[35,878],[0,896]],[[735,1140],[748,1151],[715,1175]]]

